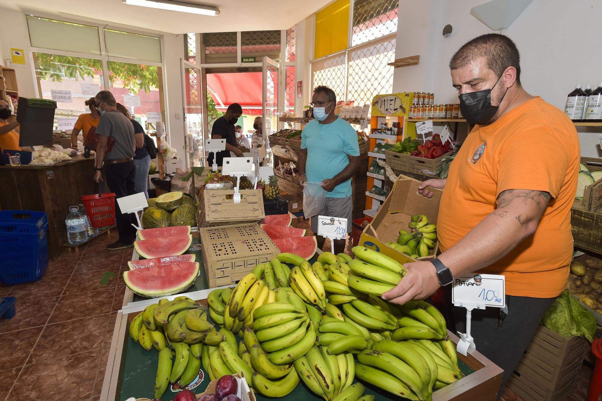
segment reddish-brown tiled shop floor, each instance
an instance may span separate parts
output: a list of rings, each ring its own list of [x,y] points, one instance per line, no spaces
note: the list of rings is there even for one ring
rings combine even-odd
[[[311,235],[308,222],[298,226]],[[0,296],[17,297],[16,316],[0,319],[0,401],[100,399],[125,291],[121,273],[132,252],[107,251],[109,242],[101,237],[77,254],[64,252],[40,281],[0,287]],[[329,247],[326,240],[324,249]],[[571,401],[587,399],[591,375],[584,365]],[[502,399],[523,401],[507,388]]]

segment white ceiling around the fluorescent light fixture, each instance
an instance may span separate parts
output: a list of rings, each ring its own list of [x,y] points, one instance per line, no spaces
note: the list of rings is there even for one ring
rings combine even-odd
[[[8,0],[0,8],[161,33],[285,30],[332,0],[179,0],[218,7],[217,17],[157,10],[121,0]]]

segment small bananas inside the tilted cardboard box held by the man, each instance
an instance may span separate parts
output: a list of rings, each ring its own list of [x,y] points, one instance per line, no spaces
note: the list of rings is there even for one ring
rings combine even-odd
[[[424,214],[414,214],[408,224],[410,231],[399,230],[397,242],[387,242],[399,252],[405,253],[412,259],[429,256],[430,250],[437,243],[437,226],[429,224],[429,218]]]

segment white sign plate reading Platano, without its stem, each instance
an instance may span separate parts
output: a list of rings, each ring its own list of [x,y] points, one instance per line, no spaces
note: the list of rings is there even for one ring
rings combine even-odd
[[[456,306],[506,306],[506,277],[501,275],[465,275],[455,278],[452,302]]]

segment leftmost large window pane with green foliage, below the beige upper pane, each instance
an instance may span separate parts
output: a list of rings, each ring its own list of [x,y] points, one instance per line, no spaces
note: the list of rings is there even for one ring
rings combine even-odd
[[[84,102],[105,89],[101,60],[45,53],[33,53],[33,58],[40,96],[52,99],[54,92],[55,117],[90,112]],[[58,129],[56,120],[54,128]]]

